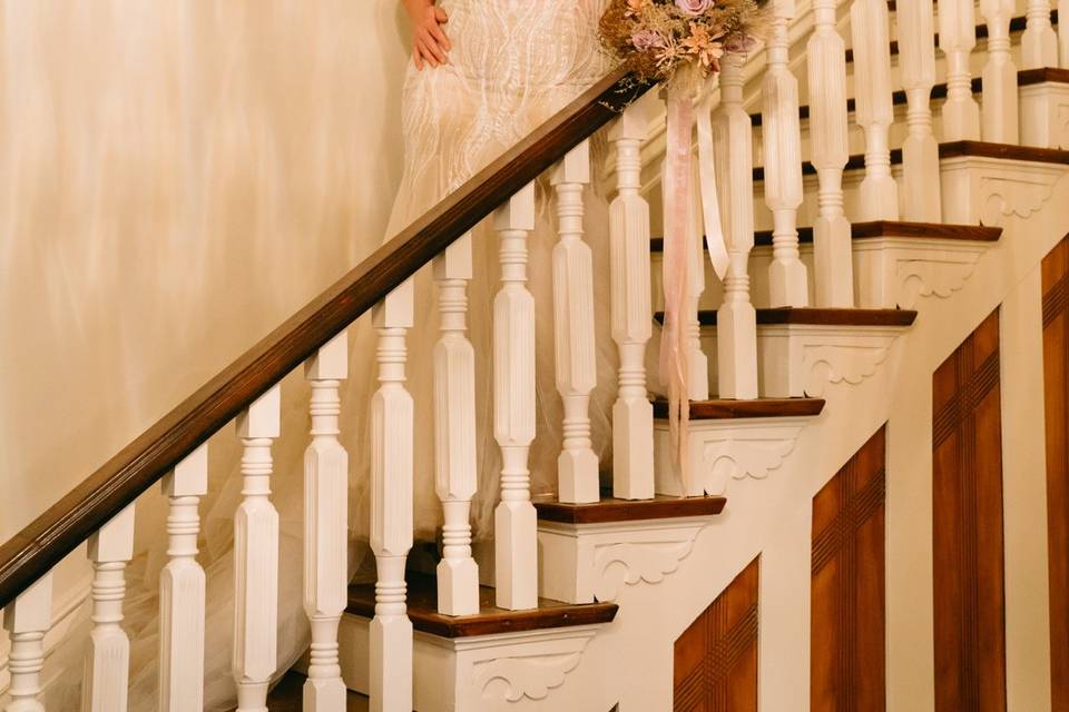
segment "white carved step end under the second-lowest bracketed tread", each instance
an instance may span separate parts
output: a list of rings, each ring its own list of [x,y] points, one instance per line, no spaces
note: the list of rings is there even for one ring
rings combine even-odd
[[[659,584],[679,567],[716,515],[565,524],[540,522],[539,589],[568,603],[616,601],[628,586]]]

